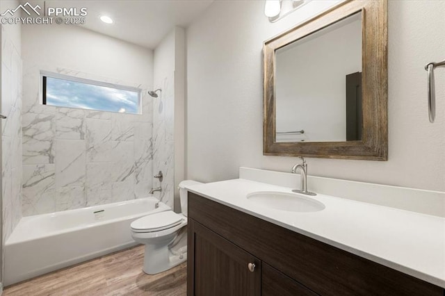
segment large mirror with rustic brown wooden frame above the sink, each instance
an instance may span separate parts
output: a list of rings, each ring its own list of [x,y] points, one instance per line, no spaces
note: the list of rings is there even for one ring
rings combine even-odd
[[[387,161],[387,0],[350,0],[266,40],[264,155]]]

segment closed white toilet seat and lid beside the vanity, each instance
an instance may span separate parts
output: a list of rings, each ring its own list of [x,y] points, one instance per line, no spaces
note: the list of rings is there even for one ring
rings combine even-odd
[[[184,222],[184,216],[173,211],[165,211],[139,218],[131,222],[133,232],[156,232],[170,229]]]

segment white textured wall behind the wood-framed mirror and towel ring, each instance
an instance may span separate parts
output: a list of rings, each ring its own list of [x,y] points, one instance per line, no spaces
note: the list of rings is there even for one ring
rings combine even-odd
[[[423,69],[445,58],[444,14],[445,1],[389,1],[389,160],[309,158],[309,174],[445,190],[445,70],[430,124]],[[261,54],[298,17],[270,24],[264,1],[215,1],[188,28],[187,178],[232,179],[241,165],[289,172],[299,162],[263,156]]]

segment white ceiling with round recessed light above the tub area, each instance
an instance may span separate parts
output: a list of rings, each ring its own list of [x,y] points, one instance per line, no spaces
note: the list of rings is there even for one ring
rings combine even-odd
[[[26,0],[20,1],[26,3]],[[83,28],[154,49],[174,26],[186,27],[213,0],[28,0],[42,8],[87,8]],[[44,3],[45,2],[45,3]],[[99,17],[108,15],[113,24]]]

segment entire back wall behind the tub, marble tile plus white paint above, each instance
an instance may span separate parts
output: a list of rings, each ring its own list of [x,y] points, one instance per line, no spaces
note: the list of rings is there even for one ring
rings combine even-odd
[[[153,51],[78,26],[23,26],[24,215],[146,197]],[[40,70],[142,89],[141,115],[40,104]],[[172,199],[165,201],[172,204]]]

